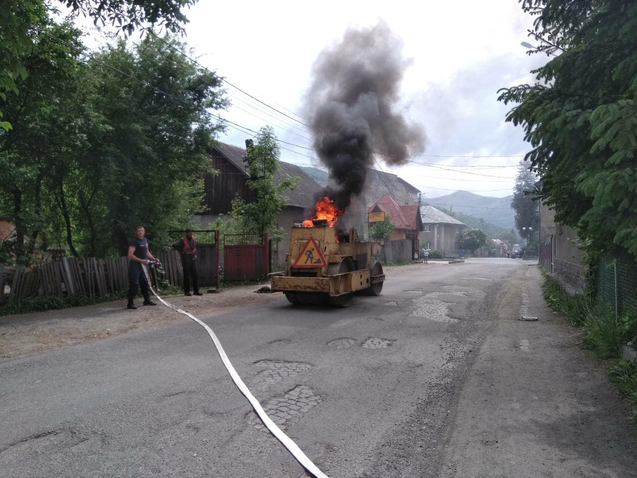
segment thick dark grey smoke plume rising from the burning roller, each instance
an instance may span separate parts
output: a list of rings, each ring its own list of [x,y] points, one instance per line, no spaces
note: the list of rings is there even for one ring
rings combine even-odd
[[[364,189],[374,153],[386,163],[404,164],[410,154],[424,150],[422,128],[396,112],[398,87],[410,63],[401,48],[401,40],[384,23],[348,29],[313,66],[306,114],[314,148],[336,183],[322,195],[342,210]]]

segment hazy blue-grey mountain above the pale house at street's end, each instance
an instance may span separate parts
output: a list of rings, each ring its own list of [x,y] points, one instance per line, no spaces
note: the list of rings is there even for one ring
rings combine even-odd
[[[473,192],[456,191],[447,194],[447,196],[440,196],[440,198],[423,198],[423,201],[434,207],[451,210],[452,214],[450,215],[452,216],[454,216],[454,212],[461,212],[510,231],[515,229],[515,211],[511,207],[512,197],[490,198],[489,196],[473,194]],[[460,220],[462,221],[462,219]],[[470,225],[468,224],[468,226]]]

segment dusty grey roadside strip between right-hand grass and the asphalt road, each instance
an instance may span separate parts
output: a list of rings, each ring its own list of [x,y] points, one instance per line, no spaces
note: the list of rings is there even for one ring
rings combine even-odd
[[[494,316],[457,402],[441,477],[637,476],[626,405],[576,330],[545,305],[541,280],[529,267],[506,286],[521,300]]]

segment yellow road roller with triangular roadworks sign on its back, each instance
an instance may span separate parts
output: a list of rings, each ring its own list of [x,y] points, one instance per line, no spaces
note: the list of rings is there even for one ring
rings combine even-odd
[[[380,294],[385,275],[374,260],[380,243],[359,242],[355,229],[339,231],[335,219],[308,220],[292,228],[285,272],[271,276],[272,291],[283,292],[295,305],[336,307],[350,305],[354,293]]]

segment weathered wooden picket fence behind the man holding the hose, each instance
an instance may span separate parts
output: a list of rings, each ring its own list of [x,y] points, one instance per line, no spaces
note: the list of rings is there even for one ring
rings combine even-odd
[[[183,286],[183,270],[176,250],[157,254],[165,271],[164,279],[173,286]],[[102,297],[124,291],[128,287],[128,259],[96,259],[95,257],[62,257],[43,261],[33,268],[16,267],[4,294],[3,265],[0,264],[0,303],[19,302],[35,295],[64,296],[81,294]]]

